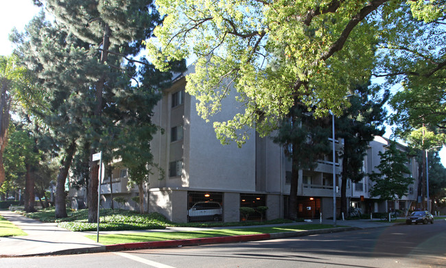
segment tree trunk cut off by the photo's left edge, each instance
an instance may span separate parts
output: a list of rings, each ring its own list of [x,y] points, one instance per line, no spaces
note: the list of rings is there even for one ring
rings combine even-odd
[[[0,80],[0,186],[5,182],[5,168],[3,167],[3,151],[8,141],[8,127],[10,125],[11,101],[8,95],[10,80],[2,78]]]

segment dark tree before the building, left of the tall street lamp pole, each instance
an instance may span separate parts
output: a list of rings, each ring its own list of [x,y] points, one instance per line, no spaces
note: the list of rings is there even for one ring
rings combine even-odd
[[[303,103],[297,103],[290,109],[290,118],[283,120],[274,143],[283,145],[285,155],[292,162],[290,198],[288,199],[288,217],[297,219],[297,190],[299,171],[315,169],[317,160],[331,151],[329,146],[330,130],[327,119],[314,119],[306,112]]]

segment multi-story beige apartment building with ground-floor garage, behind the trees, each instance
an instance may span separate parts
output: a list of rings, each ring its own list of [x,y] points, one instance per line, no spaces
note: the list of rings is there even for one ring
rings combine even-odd
[[[158,132],[151,143],[154,160],[164,173],[155,171],[145,185],[145,207],[148,212],[160,212],[167,219],[176,222],[191,220],[192,210],[199,210],[195,204],[218,203],[221,217],[215,220],[243,220],[240,207],[257,208],[267,206],[266,219],[286,216],[287,199],[290,193],[291,163],[285,157],[283,148],[272,143],[270,138],[260,138],[253,131],[250,139],[242,146],[221,145],[215,137],[213,123],[201,119],[196,112],[196,99],[185,93],[185,74],[174,80],[171,88],[163,92],[163,98],[154,110],[154,123],[164,132]],[[237,112],[237,103],[224,99],[222,112],[213,117],[224,121]],[[342,141],[335,141],[336,149]],[[370,144],[364,160],[364,171],[370,172],[379,164],[378,152],[386,149],[388,140],[377,137]],[[403,147],[401,147],[403,149]],[[314,171],[300,171],[298,180],[298,217],[316,218],[333,216],[333,159],[327,156],[318,161]],[[340,186],[342,159],[335,160],[336,185]],[[412,160],[410,169],[416,175],[416,163]],[[164,175],[163,175],[164,174]],[[160,180],[160,175],[163,178]],[[111,182],[110,182],[111,180]],[[126,208],[136,209],[132,196],[138,195],[137,188],[127,189],[126,167],[114,165],[111,178],[101,186],[102,206],[110,207],[111,195],[125,197]],[[371,182],[347,185],[347,198],[353,207],[363,211],[386,211],[390,204],[379,203],[368,195]],[[339,187],[340,188],[340,187]],[[408,208],[414,201],[416,189],[410,195],[390,207]],[[340,193],[336,193],[338,210]],[[82,201],[79,192],[71,191],[73,200]],[[75,206],[79,202],[74,202]],[[204,204],[203,203],[203,204]],[[218,206],[218,205],[217,205]],[[202,213],[209,213],[206,212]],[[215,211],[214,211],[215,212]],[[211,211],[211,213],[214,213]],[[251,215],[260,217],[260,214]],[[263,217],[265,219],[265,217]]]

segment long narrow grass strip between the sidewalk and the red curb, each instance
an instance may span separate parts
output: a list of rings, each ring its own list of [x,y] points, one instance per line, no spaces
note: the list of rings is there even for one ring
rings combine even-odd
[[[99,243],[103,245],[113,245],[119,243],[136,243],[180,239],[199,239],[205,237],[217,236],[235,236],[245,234],[272,234],[275,232],[298,232],[302,230],[316,230],[333,228],[328,224],[301,224],[296,226],[281,227],[256,227],[240,229],[222,229],[222,230],[200,230],[193,232],[145,232],[128,234],[99,234]],[[96,235],[87,235],[89,239],[96,240]]]

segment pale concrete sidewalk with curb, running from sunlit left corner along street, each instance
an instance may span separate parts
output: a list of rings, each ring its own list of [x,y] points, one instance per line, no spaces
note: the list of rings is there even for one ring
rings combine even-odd
[[[181,241],[159,241],[129,243],[119,245],[101,245],[85,237],[86,234],[96,234],[96,232],[71,232],[57,227],[57,223],[42,223],[34,219],[29,219],[9,210],[0,210],[0,215],[19,226],[27,236],[0,237],[1,257],[14,256],[39,256],[39,255],[60,255],[60,254],[81,254],[90,252],[106,252],[125,249],[142,249],[155,247],[178,247],[185,245],[203,245],[214,243],[233,243],[242,241],[258,241],[266,239],[279,239],[291,236],[306,236],[310,234],[322,234],[328,232],[344,232],[347,230],[358,230],[366,228],[379,228],[391,226],[394,223],[382,223],[371,220],[337,221],[337,226],[348,226],[342,228],[330,228],[322,230],[309,230],[301,232],[281,232],[277,234],[253,234],[247,236],[224,236],[211,237],[207,239],[187,239]],[[311,223],[320,223],[314,220]],[[322,224],[332,224],[333,220],[322,220]],[[303,223],[285,223],[269,226],[296,226]],[[197,230],[218,230],[231,228],[254,228],[257,226],[233,226],[220,228],[166,228],[165,230],[134,230],[134,231],[114,231],[100,232],[100,234],[115,233],[137,233],[137,232],[176,232],[176,231],[197,231]]]

